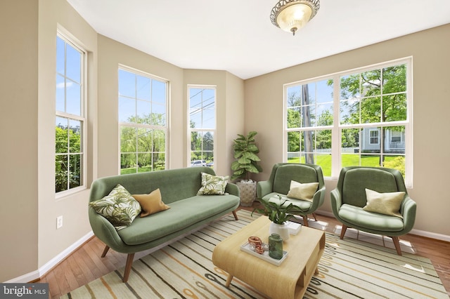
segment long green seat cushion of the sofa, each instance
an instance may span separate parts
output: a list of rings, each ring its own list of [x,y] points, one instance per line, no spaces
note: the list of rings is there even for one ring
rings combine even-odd
[[[197,195],[172,202],[171,208],[164,213],[136,218],[133,225],[117,233],[127,245],[144,244],[211,218],[237,204],[239,197],[234,195]]]

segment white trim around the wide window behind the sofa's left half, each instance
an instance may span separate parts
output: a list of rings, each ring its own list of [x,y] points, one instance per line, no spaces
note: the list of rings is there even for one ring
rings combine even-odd
[[[166,134],[166,140],[165,140],[166,141],[165,142],[165,169],[169,169],[169,164],[168,164],[169,162],[168,161],[169,161],[169,149],[170,149],[170,147],[169,147],[169,140],[170,140],[170,138],[169,138],[170,137],[169,136],[169,132],[170,132],[170,130],[169,130],[169,124],[170,124],[170,119],[169,119],[169,117],[170,117],[170,113],[169,113],[169,107],[170,107],[170,105],[169,105],[169,102],[170,102],[170,94],[169,94],[170,82],[169,82],[169,80],[167,80],[167,79],[165,79],[163,77],[159,77],[159,76],[156,76],[154,74],[149,74],[147,72],[143,72],[142,70],[136,69],[134,67],[129,67],[127,65],[119,64],[118,67],[117,67],[117,115],[119,114],[118,101],[119,101],[119,97],[120,97],[120,94],[119,94],[119,70],[120,69],[122,69],[122,70],[124,70],[126,72],[131,72],[131,73],[137,74],[139,76],[150,78],[152,80],[162,81],[162,82],[165,82],[165,84],[166,84],[166,103],[165,103],[165,108],[166,108],[166,125],[164,126],[165,134]],[[137,107],[136,107],[136,109],[137,109]],[[128,126],[130,128],[150,128],[150,129],[161,129],[162,128],[161,126],[146,125],[146,124],[131,124],[131,123],[124,123],[124,122],[117,121],[117,145],[118,145],[117,152],[119,153],[117,155],[117,168],[118,168],[117,169],[117,174],[118,175],[120,175],[120,172],[121,172],[121,168],[120,168],[120,155],[122,153],[122,149],[120,147],[120,127],[121,126]]]

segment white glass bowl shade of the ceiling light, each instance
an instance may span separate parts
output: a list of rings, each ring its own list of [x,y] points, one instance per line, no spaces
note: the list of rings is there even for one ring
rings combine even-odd
[[[312,9],[307,4],[293,4],[284,8],[276,18],[278,26],[286,32],[295,32],[311,19]]]

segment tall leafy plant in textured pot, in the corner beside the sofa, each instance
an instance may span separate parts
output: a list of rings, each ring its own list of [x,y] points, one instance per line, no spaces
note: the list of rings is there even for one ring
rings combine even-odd
[[[252,206],[253,201],[256,199],[256,182],[250,179],[250,173],[259,173],[262,171],[262,167],[259,166],[258,161],[261,161],[257,154],[259,148],[255,142],[256,131],[251,131],[248,135],[244,136],[238,134],[238,138],[233,140],[234,159],[231,164],[231,180],[238,180],[240,190],[240,204],[242,206]]]

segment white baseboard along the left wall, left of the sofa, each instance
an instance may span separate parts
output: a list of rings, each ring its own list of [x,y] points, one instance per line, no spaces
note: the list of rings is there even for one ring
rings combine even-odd
[[[56,257],[49,260],[49,262],[47,262],[45,265],[40,267],[38,270],[35,270],[35,271],[27,273],[27,274],[23,274],[20,277],[15,277],[13,279],[10,279],[10,280],[4,281],[4,282],[12,283],[12,284],[21,284],[21,283],[27,283],[27,282],[33,281],[35,279],[39,279],[40,277],[43,277],[44,274],[46,274],[46,272],[49,272],[49,270],[51,270],[51,268],[58,265],[58,263],[60,263],[61,260],[64,260],[68,255],[70,255],[70,253],[75,251],[75,249],[77,249],[79,246],[82,246],[82,244],[84,242],[86,242],[87,240],[89,240],[92,236],[94,236],[94,233],[92,231],[88,232],[81,239],[76,241],[74,244],[72,244],[68,248],[65,248],[65,250],[63,252],[59,253],[58,255],[56,255]]]

